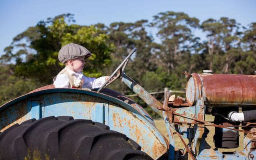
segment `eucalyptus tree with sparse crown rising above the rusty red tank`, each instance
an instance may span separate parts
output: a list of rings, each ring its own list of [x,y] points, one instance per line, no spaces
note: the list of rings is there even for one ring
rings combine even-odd
[[[230,65],[241,51],[240,24],[226,17],[220,20],[210,18],[202,23],[201,28],[207,37],[208,68],[214,72],[230,73]]]

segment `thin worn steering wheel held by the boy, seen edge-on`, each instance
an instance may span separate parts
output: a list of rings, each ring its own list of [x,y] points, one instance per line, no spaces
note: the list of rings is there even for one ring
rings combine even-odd
[[[108,80],[106,80],[106,82],[100,87],[100,89],[98,89],[97,92],[100,92],[102,89],[104,89],[107,86],[109,86],[112,82],[114,82],[117,78],[119,78],[120,76],[122,76],[124,74],[124,70],[125,70],[125,68],[126,68],[126,66],[128,64],[128,61],[130,60],[130,56],[132,56],[132,54],[136,50],[137,50],[137,48],[133,48],[133,50],[130,52],[130,54],[128,54],[128,56],[126,58],[124,58],[123,62],[116,68],[116,70],[110,75]],[[116,77],[114,79],[112,79],[117,72],[118,72],[118,74],[116,75]]]

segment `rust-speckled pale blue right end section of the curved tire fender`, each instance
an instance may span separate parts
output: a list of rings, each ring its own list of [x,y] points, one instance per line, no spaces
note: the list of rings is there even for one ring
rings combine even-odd
[[[142,116],[109,104],[108,126],[140,144],[142,151],[158,159],[168,149],[164,136]]]

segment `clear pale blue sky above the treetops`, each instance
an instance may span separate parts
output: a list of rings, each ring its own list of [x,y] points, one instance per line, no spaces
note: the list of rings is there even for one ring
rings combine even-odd
[[[74,14],[78,25],[152,20],[160,12],[174,11],[196,17],[200,23],[228,17],[248,27],[256,22],[255,8],[256,0],[0,0],[0,56],[16,35],[64,13]]]

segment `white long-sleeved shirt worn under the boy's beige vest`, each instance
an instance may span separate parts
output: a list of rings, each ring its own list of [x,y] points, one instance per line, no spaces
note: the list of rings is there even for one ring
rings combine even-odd
[[[66,69],[67,69],[67,72],[69,72],[72,76],[75,76],[78,80],[80,81],[82,79],[84,80],[82,88],[89,88],[89,89],[100,88],[102,84],[106,82],[106,76],[103,76],[100,78],[90,78],[90,77],[84,76],[82,72],[73,72],[67,67]],[[65,73],[59,74],[56,77],[53,84],[56,88],[68,88],[68,84],[69,84],[68,76]]]

